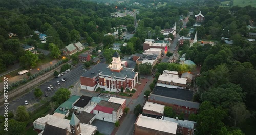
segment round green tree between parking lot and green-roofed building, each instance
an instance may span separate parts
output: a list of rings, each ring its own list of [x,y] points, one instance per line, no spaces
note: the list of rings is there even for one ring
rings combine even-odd
[[[65,102],[67,99],[69,99],[71,92],[67,88],[60,88],[55,93],[55,95],[52,97],[54,101],[56,101],[58,104],[61,104]]]

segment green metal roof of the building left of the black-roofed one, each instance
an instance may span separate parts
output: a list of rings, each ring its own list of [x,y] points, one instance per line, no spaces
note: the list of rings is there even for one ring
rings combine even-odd
[[[66,100],[64,103],[62,103],[55,111],[54,113],[60,113],[60,114],[67,114],[67,112],[65,112],[68,108],[68,109],[71,109],[72,108],[72,104],[77,100],[79,99],[80,96],[76,96],[76,95],[72,95],[68,100]],[[65,108],[65,111],[63,110],[60,110],[60,108]]]

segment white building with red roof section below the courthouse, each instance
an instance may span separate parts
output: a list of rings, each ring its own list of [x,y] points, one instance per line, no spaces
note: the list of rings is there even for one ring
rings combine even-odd
[[[98,120],[115,123],[121,118],[123,111],[121,104],[101,100],[91,113],[96,114],[95,118]]]

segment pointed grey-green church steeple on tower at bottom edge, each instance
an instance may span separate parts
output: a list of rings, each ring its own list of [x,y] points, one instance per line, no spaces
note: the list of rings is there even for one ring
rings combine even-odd
[[[72,135],[81,134],[80,120],[76,117],[74,112],[73,112],[72,117],[70,119],[69,125],[70,125]]]

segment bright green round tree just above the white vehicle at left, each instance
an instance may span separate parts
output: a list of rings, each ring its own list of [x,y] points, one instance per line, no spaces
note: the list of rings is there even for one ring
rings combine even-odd
[[[35,68],[36,62],[38,62],[39,59],[36,54],[33,54],[30,51],[26,51],[24,56],[19,57],[19,61],[23,67],[30,66],[31,68]]]

